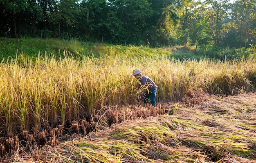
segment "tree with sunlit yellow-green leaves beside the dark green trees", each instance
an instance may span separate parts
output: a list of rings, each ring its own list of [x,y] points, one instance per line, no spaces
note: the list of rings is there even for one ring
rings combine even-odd
[[[151,0],[150,2],[153,8],[151,19],[153,24],[149,31],[152,31],[154,42],[175,44],[175,40],[179,40],[179,44],[182,43],[181,38],[189,26],[189,17],[193,9],[192,0]]]

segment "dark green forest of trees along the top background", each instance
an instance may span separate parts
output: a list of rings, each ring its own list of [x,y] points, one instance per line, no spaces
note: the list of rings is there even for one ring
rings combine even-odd
[[[256,41],[255,0],[0,0],[0,17],[0,37],[206,51]]]

